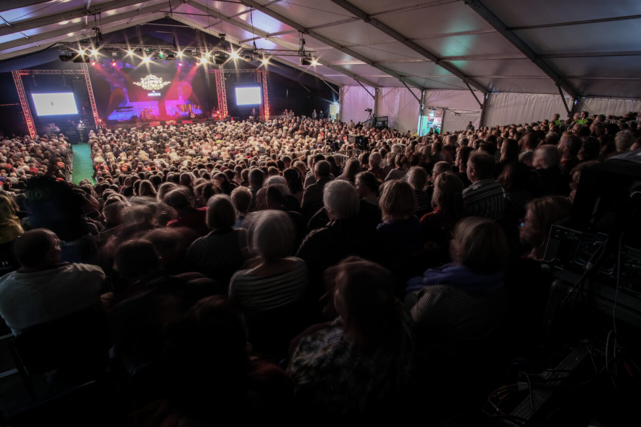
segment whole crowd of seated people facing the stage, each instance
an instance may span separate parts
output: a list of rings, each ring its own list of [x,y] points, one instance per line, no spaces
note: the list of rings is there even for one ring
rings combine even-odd
[[[426,377],[431,361],[536,337],[551,225],[583,168],[639,147],[635,119],[99,131],[95,185],[65,180],[63,138],[3,140],[0,315],[19,334],[103,310],[111,374],[140,395],[132,425],[403,412],[426,381],[451,381]]]

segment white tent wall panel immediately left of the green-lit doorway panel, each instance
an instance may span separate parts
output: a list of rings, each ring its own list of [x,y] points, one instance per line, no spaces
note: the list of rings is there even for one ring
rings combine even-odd
[[[420,99],[420,90],[406,88],[384,87],[379,90],[378,108],[376,115],[387,115],[388,126],[403,133],[406,131],[417,131],[419,125],[419,101],[412,93]]]

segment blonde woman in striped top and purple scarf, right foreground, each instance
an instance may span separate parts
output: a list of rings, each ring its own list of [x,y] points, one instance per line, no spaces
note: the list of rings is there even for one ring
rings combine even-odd
[[[508,244],[496,222],[469,217],[454,229],[450,253],[452,262],[408,281],[405,304],[419,337],[458,347],[503,322]]]

